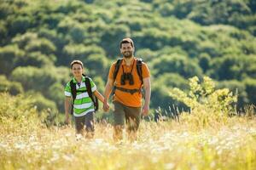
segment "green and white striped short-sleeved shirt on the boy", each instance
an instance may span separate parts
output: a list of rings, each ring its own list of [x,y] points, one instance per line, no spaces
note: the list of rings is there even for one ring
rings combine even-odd
[[[89,79],[90,79],[91,92],[93,93],[96,91],[96,84],[91,80],[91,78]],[[74,77],[72,81],[75,83],[77,90],[86,90],[85,77],[82,77],[80,86],[78,85],[78,82]],[[67,82],[67,85],[65,87],[65,96],[72,97],[69,82]],[[73,116],[84,116],[90,111],[94,111],[94,105],[88,93],[77,92],[76,99],[73,102]]]

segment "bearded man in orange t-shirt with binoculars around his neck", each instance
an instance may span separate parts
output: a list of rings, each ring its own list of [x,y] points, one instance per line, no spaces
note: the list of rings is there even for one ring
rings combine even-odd
[[[131,38],[123,39],[120,44],[120,53],[123,59],[119,68],[116,69],[117,62],[111,65],[108,82],[105,88],[105,99],[103,102],[104,111],[108,111],[108,98],[113,91],[113,139],[122,139],[122,129],[126,122],[128,139],[137,139],[137,129],[140,123],[141,112],[143,116],[148,115],[150,100],[150,77],[148,66],[142,62],[142,77],[138,75],[137,58],[134,57],[134,43]],[[114,77],[115,70],[118,70]],[[142,111],[142,88],[145,90],[145,101]]]

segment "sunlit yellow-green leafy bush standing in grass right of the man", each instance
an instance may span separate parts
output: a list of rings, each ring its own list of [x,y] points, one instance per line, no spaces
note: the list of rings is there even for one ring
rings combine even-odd
[[[190,108],[192,116],[184,116],[189,121],[196,122],[199,127],[224,123],[228,116],[236,115],[237,96],[228,88],[215,90],[214,82],[209,77],[189,78],[189,92],[186,94],[179,88],[170,91],[175,98]]]

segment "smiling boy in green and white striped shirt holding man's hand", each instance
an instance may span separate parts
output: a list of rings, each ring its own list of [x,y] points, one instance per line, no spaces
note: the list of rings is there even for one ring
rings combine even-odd
[[[71,71],[73,72],[73,79],[67,82],[65,88],[65,115],[67,124],[70,123],[70,104],[71,97],[73,98],[72,86],[76,90],[76,96],[73,99],[73,116],[75,121],[75,127],[78,134],[84,135],[85,126],[85,138],[91,139],[94,135],[94,104],[88,89],[86,88],[86,78],[90,83],[91,92],[96,96],[97,99],[103,102],[104,98],[96,89],[96,84],[89,77],[84,77],[84,65],[80,60],[73,60],[70,64]],[[73,84],[72,84],[73,83]],[[89,84],[88,83],[88,84]],[[107,104],[108,105],[108,104]]]

